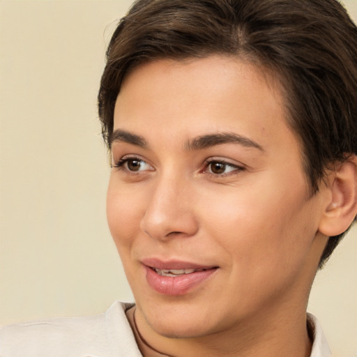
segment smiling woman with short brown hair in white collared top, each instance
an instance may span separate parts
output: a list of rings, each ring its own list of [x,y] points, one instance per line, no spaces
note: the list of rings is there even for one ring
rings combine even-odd
[[[331,356],[306,305],[357,213],[356,35],[334,0],[137,1],[98,96],[135,305],[1,356]]]

